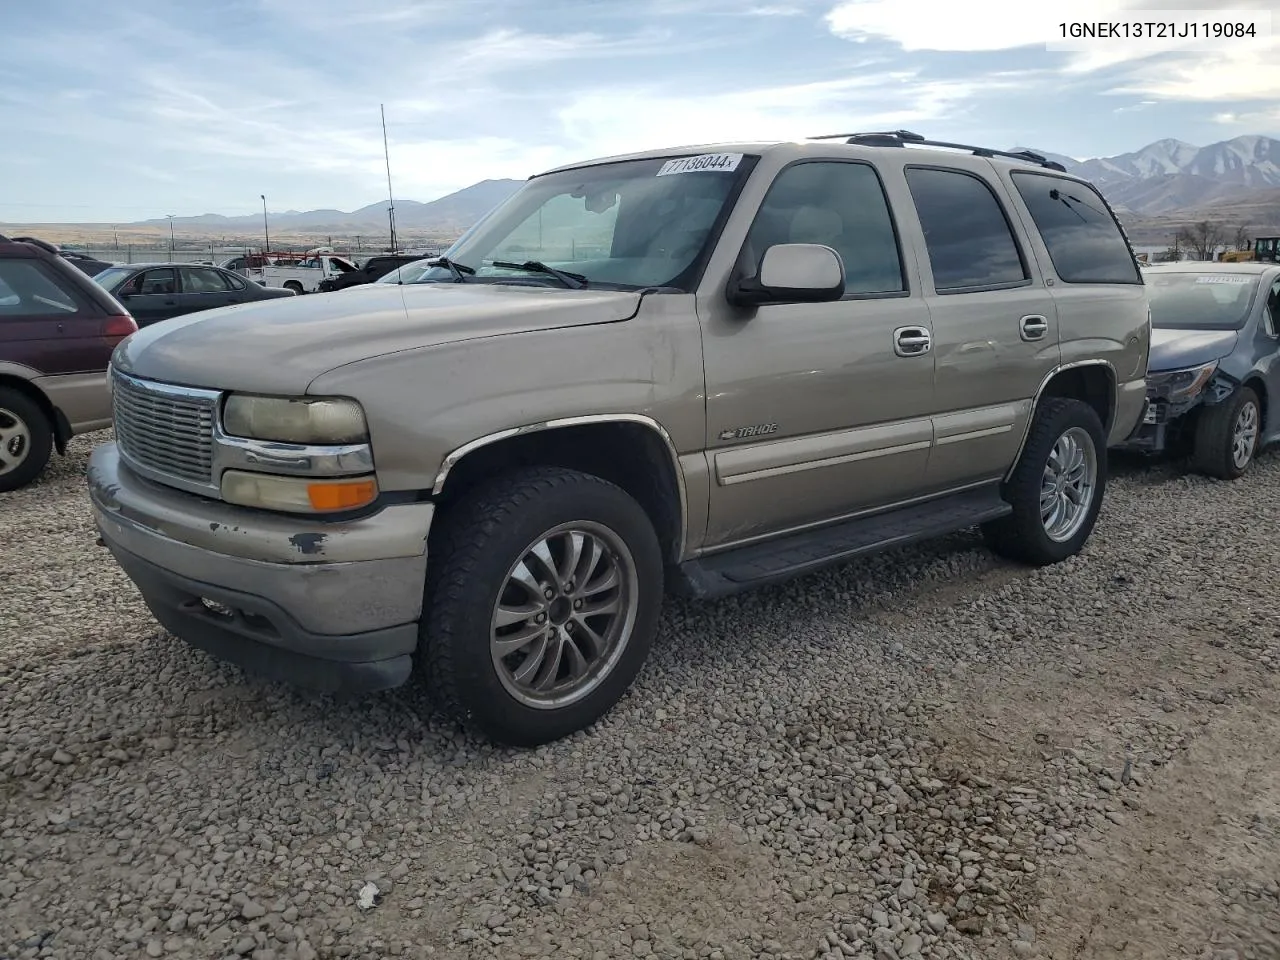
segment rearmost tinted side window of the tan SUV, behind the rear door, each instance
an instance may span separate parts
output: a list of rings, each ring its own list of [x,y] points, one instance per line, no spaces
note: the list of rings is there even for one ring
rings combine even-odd
[[[1142,283],[1129,243],[1097,191],[1039,173],[1012,177],[1064,283]]]

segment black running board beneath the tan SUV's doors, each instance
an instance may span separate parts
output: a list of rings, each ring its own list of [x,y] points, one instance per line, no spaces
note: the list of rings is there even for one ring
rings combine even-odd
[[[677,593],[703,599],[780,584],[868,553],[931,540],[1012,513],[1000,485],[954,493],[869,517],[737,547],[675,570]]]

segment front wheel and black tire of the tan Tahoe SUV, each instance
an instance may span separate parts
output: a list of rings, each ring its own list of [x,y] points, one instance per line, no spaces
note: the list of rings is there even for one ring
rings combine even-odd
[[[653,525],[588,474],[538,467],[477,489],[442,518],[428,567],[430,692],[497,742],[589,727],[631,686],[658,628]]]

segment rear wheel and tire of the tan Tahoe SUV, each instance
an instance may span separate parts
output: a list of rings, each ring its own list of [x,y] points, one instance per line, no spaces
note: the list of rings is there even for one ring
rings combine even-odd
[[[1106,490],[1107,448],[1102,422],[1087,403],[1050,397],[1033,417],[1005,484],[1014,512],[982,531],[1002,557],[1043,567],[1078,554],[1093,532]]]

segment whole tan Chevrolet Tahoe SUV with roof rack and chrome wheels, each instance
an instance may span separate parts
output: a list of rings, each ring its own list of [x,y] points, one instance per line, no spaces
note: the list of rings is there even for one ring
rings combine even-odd
[[[425,282],[143,329],[90,467],[102,538],[196,646],[320,690],[417,660],[522,745],[625,694],[667,588],[973,525],[1070,557],[1143,416],[1142,275],[1088,183],[956,146],[564,166]]]

